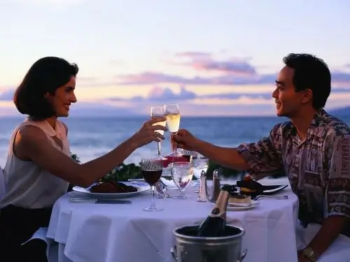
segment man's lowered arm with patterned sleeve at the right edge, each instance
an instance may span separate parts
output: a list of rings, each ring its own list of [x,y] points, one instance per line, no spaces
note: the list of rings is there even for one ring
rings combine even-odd
[[[310,242],[316,259],[325,252],[350,222],[350,135],[330,134],[328,140],[328,185],[326,218]]]

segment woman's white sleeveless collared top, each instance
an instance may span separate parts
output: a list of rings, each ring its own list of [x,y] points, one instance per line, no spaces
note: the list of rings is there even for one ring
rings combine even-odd
[[[8,157],[4,168],[6,196],[0,201],[0,208],[6,205],[15,205],[21,208],[48,208],[57,199],[64,195],[69,183],[48,171],[37,166],[33,161],[22,161],[13,154],[15,136],[23,126],[37,126],[43,130],[52,143],[52,146],[70,156],[69,143],[66,137],[66,128],[57,120],[55,129],[47,121],[25,120],[13,131],[8,147]],[[53,137],[62,141],[63,148],[59,147]]]

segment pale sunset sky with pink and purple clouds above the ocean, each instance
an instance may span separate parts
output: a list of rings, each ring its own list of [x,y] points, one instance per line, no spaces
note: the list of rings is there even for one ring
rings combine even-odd
[[[0,0],[0,115],[18,114],[13,89],[46,56],[80,68],[72,114],[175,102],[184,115],[273,115],[290,52],[325,60],[326,108],[339,108],[350,105],[349,32],[346,0]]]

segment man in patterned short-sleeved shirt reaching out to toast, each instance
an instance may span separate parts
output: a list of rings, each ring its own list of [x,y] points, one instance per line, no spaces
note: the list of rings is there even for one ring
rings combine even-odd
[[[311,54],[289,54],[283,62],[272,97],[277,115],[290,122],[237,148],[211,145],[186,130],[173,139],[222,166],[247,170],[255,180],[286,173],[300,201],[300,221],[321,225],[298,259],[316,261],[338,235],[350,237],[350,129],[323,110],[331,82],[325,62]]]

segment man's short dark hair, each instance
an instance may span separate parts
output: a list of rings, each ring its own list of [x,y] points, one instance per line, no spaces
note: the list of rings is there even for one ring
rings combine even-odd
[[[330,71],[322,59],[312,54],[288,54],[283,58],[286,66],[294,69],[295,92],[304,89],[312,91],[312,105],[316,110],[323,108],[330,94]]]

